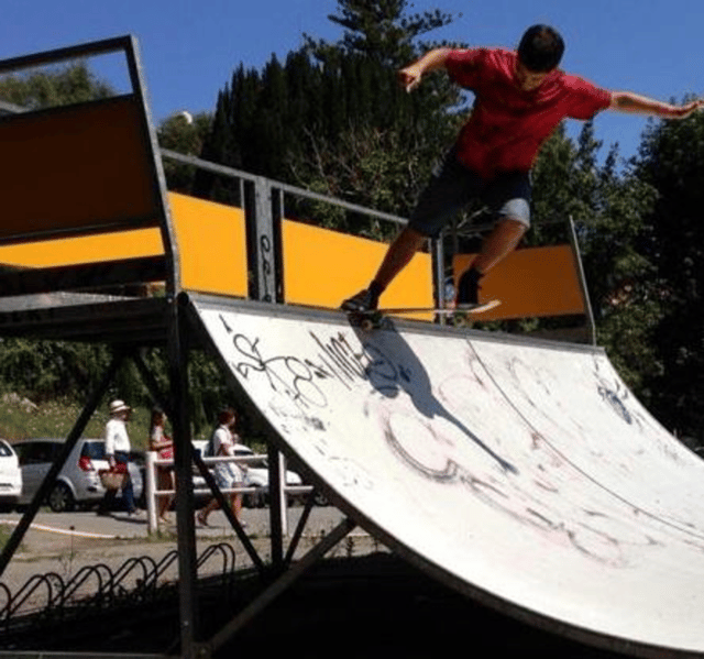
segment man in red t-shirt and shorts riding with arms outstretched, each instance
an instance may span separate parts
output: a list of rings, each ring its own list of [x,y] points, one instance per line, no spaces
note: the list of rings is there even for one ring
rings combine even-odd
[[[530,169],[540,146],[565,118],[588,120],[602,110],[683,119],[704,100],[672,106],[628,91],[607,91],[558,68],[564,42],[548,25],[534,25],[517,52],[436,48],[398,72],[411,91],[422,76],[446,69],[475,95],[472,113],[420,195],[410,221],[391,244],[370,286],[342,303],[346,311],[377,308],[378,298],[429,237],[471,199],[495,218],[481,253],[463,275],[458,301],[479,303],[481,278],[519,243],[530,226]]]

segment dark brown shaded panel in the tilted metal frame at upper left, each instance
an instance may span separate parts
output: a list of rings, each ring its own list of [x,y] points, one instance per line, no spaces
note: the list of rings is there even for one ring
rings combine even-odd
[[[141,114],[134,99],[118,97],[0,120],[0,240],[155,226]]]

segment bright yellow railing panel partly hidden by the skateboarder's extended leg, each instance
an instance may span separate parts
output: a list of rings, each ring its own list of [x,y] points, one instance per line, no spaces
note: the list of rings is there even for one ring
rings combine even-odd
[[[343,299],[369,285],[388,246],[290,220],[284,220],[282,232],[289,304],[339,308]],[[432,307],[430,255],[416,254],[381,301],[384,307]]]

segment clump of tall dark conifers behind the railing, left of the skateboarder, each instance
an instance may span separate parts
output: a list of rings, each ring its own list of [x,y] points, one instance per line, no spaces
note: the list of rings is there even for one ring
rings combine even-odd
[[[204,157],[356,204],[407,215],[455,131],[462,97],[446,76],[405,94],[396,69],[420,52],[416,40],[447,24],[442,12],[406,15],[406,2],[338,2],[337,43],[307,37],[284,65],[234,73],[221,91]],[[450,111],[449,111],[450,110]],[[233,200],[208,174],[198,194]],[[288,210],[288,209],[287,209]],[[378,235],[378,227],[320,205],[299,218]]]

